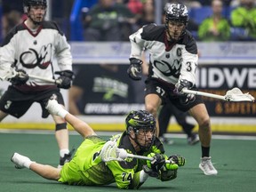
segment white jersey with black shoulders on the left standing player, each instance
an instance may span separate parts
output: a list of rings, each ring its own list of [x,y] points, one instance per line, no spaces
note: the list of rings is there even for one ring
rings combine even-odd
[[[54,57],[60,68],[53,68]],[[36,31],[29,29],[24,22],[20,23],[12,28],[0,48],[0,75],[8,73],[12,65],[24,69],[28,75],[50,79],[56,69],[72,70],[72,56],[66,36],[52,21],[44,20]],[[30,78],[27,84],[47,83]]]

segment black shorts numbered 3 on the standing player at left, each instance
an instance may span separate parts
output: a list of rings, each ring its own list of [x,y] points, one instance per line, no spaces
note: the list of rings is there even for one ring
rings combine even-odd
[[[0,110],[9,115],[20,118],[27,111],[34,102],[38,102],[42,108],[42,117],[49,116],[48,110],[45,108],[47,101],[52,97],[52,94],[57,95],[57,100],[60,104],[64,105],[63,97],[60,89],[51,87],[44,91],[36,92],[20,92],[14,86],[10,85],[0,100]]]

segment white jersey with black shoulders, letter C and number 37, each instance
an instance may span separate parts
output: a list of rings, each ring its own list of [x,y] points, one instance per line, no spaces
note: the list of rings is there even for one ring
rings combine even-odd
[[[188,30],[178,42],[167,41],[164,25],[149,24],[129,36],[132,44],[130,58],[140,59],[149,52],[149,77],[169,84],[186,79],[196,84],[197,46]]]

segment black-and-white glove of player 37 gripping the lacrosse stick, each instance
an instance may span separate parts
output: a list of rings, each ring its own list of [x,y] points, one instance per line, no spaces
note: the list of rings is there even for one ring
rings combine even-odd
[[[183,93],[183,89],[191,89],[193,84],[185,79],[180,79],[180,82],[175,84],[174,93],[180,96],[180,102],[183,105],[188,105],[189,102],[193,102],[196,100],[196,96],[194,94],[186,94]]]

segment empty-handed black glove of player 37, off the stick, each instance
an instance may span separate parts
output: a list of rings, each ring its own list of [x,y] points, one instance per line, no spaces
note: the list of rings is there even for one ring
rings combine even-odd
[[[140,73],[142,72],[142,60],[136,58],[130,58],[130,67],[127,69],[127,73],[133,80],[141,80]]]

